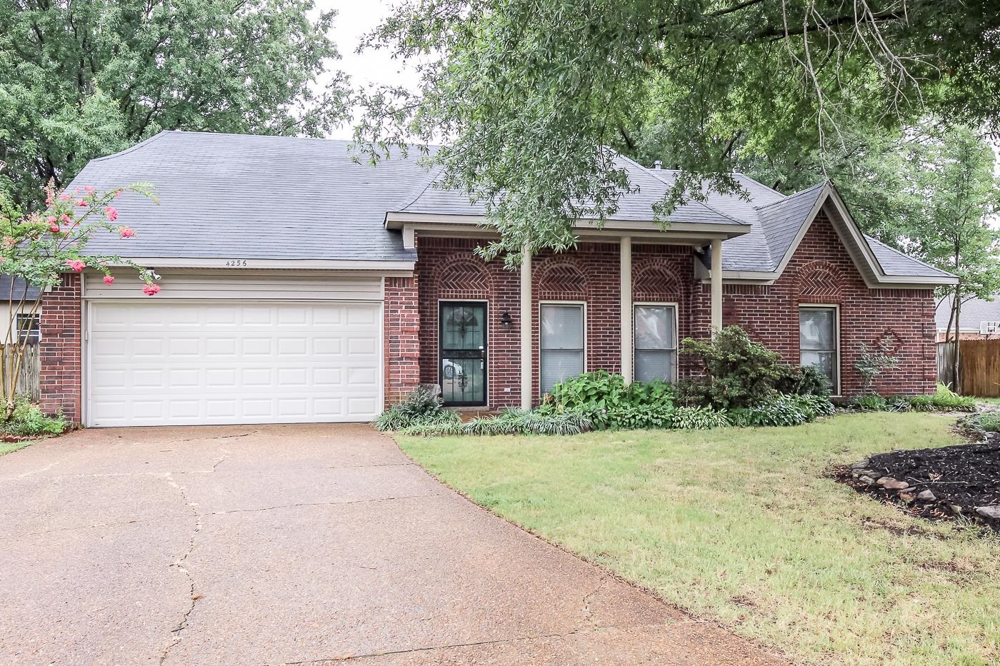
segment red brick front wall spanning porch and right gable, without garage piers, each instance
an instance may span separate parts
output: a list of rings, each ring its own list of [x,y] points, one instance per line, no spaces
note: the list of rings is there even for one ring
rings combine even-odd
[[[503,262],[484,262],[473,252],[485,241],[421,238],[419,279],[420,381],[438,381],[438,301],[487,300],[488,400],[494,408],[520,405],[520,277]],[[680,338],[707,337],[710,293],[694,279],[694,250],[685,246],[634,245],[633,300],[678,304]],[[619,372],[619,248],[582,243],[573,252],[543,253],[532,264],[534,400],[538,401],[538,303],[544,300],[587,304],[586,369]],[[388,290],[387,290],[388,291]],[[891,340],[900,365],[886,371],[876,386],[884,393],[933,391],[935,383],[934,300],[931,290],[868,289],[829,220],[821,217],[807,232],[782,277],[773,285],[725,285],[723,322],[747,328],[751,336],[798,362],[800,303],[839,304],[843,393],[861,388],[854,369],[860,344],[874,347]],[[509,312],[513,324],[500,325]],[[693,359],[681,356],[682,376],[696,372]]]

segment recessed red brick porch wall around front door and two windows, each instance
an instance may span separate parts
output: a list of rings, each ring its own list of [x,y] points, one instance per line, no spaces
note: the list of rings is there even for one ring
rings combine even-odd
[[[488,400],[491,407],[521,404],[520,273],[502,260],[485,262],[474,254],[486,241],[469,238],[420,238],[420,381],[438,382],[438,302],[486,300]],[[635,245],[633,287],[636,300],[679,304],[680,335],[692,333],[690,294],[696,288],[689,247]],[[538,306],[541,301],[582,301],[587,312],[586,369],[621,371],[619,329],[619,249],[617,244],[581,243],[571,253],[545,252],[532,261],[532,339],[534,400],[539,398]],[[500,324],[509,312],[510,328]]]

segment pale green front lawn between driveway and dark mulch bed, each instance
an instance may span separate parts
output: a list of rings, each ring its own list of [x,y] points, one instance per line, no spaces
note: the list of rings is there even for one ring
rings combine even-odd
[[[1000,661],[1000,538],[931,523],[824,474],[959,441],[954,419],[794,428],[401,437],[496,513],[805,662]]]

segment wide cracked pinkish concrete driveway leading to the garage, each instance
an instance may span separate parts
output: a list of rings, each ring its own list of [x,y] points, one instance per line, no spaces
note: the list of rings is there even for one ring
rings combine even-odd
[[[0,663],[761,664],[364,426],[90,430],[0,457]]]

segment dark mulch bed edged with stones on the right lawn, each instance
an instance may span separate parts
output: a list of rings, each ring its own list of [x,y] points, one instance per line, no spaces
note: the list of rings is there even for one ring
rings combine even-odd
[[[914,515],[964,516],[1000,530],[1000,433],[981,444],[880,453],[834,477]]]

